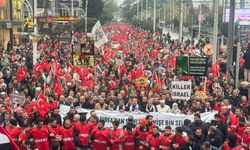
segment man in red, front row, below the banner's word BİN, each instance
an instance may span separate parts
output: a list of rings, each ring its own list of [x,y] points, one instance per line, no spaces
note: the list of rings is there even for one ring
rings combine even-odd
[[[167,126],[165,128],[165,133],[163,134],[163,136],[161,138],[160,148],[162,150],[170,149],[173,137],[174,137],[174,134],[171,132],[171,127]]]

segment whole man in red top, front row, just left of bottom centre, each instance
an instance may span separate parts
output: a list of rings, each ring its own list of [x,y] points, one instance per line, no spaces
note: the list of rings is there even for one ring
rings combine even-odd
[[[124,141],[123,128],[119,128],[119,121],[113,121],[113,129],[111,129],[112,150],[120,150]]]

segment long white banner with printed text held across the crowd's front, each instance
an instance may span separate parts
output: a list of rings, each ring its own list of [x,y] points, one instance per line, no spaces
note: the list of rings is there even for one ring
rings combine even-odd
[[[69,106],[60,105],[60,114],[61,117],[65,117],[69,112]],[[91,110],[86,109],[77,109],[78,113],[86,112],[87,117],[89,117],[89,112]],[[208,112],[201,113],[201,119],[205,122],[210,122],[214,115],[217,112]],[[135,124],[138,124],[141,118],[145,118],[147,115],[152,115],[154,122],[161,128],[164,129],[166,126],[171,126],[173,129],[178,126],[182,126],[184,124],[185,119],[194,120],[193,115],[185,115],[185,114],[172,114],[172,113],[137,113],[137,112],[119,112],[119,111],[101,111],[96,110],[96,114],[99,119],[105,120],[105,125],[107,127],[112,126],[112,121],[118,120],[120,122],[120,127],[124,126],[127,123],[128,116],[133,116],[135,120]]]

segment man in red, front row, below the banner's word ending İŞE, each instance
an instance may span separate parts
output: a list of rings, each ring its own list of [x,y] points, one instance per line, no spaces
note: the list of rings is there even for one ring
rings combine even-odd
[[[159,127],[153,127],[153,134],[148,135],[148,143],[146,144],[150,149],[159,149],[162,136],[159,133]]]

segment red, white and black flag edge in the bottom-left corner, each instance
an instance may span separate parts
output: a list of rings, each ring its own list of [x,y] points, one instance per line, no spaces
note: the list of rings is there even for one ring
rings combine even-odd
[[[0,149],[20,150],[10,135],[0,125]]]

